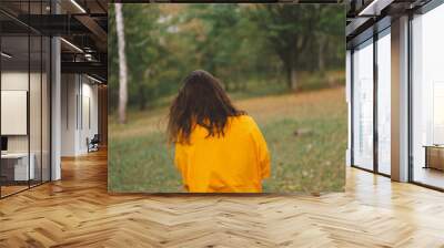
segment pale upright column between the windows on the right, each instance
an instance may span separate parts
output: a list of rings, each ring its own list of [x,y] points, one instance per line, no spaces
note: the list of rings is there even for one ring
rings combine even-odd
[[[408,17],[392,20],[392,179],[408,180]]]

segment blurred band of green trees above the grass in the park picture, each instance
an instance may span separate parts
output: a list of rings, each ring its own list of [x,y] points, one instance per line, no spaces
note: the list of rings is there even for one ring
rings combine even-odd
[[[113,4],[109,17],[112,111],[119,91]],[[242,94],[263,92],[251,82],[285,86],[289,68],[327,71],[344,65],[345,11],[340,6],[124,4],[123,19],[130,108],[159,105],[196,69],[208,70],[228,91]]]

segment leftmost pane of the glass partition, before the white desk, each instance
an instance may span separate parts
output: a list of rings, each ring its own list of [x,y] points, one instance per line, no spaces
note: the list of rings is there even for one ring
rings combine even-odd
[[[34,175],[29,159],[29,45],[28,35],[1,38],[2,196],[27,189]]]

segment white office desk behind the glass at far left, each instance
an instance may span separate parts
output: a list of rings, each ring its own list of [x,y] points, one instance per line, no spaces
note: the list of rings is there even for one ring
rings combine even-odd
[[[36,177],[34,170],[34,161],[36,155],[30,153],[29,157],[31,158],[31,163],[29,163],[28,170],[28,153],[6,153],[1,154],[1,167],[2,174],[3,170],[13,170],[13,173],[6,173],[3,175],[7,176],[10,180],[28,180],[33,179]],[[13,164],[11,164],[11,162]],[[9,174],[9,175],[8,175]],[[13,176],[12,176],[13,175]],[[28,178],[29,176],[29,178]]]

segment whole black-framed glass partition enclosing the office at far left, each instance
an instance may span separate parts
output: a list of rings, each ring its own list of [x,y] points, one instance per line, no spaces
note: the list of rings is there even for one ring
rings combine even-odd
[[[48,12],[43,2],[18,11]],[[48,37],[0,13],[0,197],[50,179],[50,49]]]

